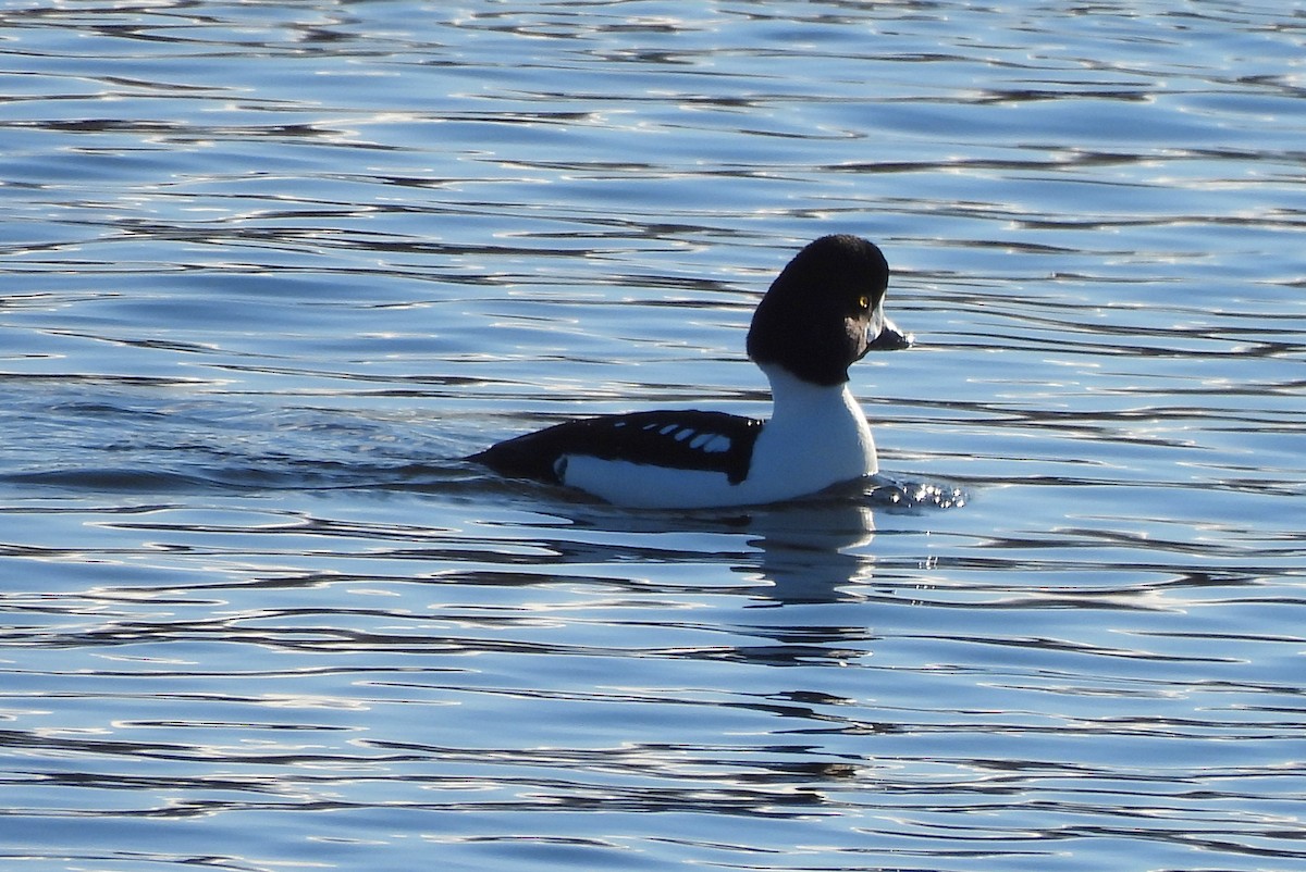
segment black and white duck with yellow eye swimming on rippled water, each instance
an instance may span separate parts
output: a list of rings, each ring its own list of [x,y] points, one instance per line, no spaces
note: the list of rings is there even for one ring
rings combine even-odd
[[[512,476],[646,508],[755,505],[815,493],[878,470],[848,368],[904,349],[884,317],[889,268],[875,244],[824,236],[757,304],[748,356],[771,381],[767,422],[720,411],[603,415],[499,443],[471,459]]]

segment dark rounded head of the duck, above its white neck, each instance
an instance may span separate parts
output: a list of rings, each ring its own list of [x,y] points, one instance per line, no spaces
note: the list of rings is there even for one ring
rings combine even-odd
[[[757,304],[748,356],[818,385],[844,384],[848,367],[880,338],[888,283],[889,265],[875,243],[821,236],[789,261]]]

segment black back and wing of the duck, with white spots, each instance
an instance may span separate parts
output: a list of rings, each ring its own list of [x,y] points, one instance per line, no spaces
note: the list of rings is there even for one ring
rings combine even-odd
[[[469,459],[503,475],[555,484],[562,483],[558,461],[568,454],[724,473],[726,480],[738,484],[748,475],[761,424],[754,418],[696,409],[601,415],[509,439]],[[713,437],[729,440],[729,446],[703,450]]]

